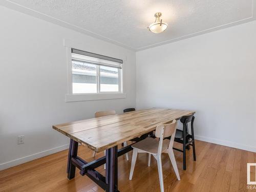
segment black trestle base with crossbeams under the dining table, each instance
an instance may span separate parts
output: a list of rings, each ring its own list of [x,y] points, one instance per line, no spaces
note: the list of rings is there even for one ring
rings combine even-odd
[[[139,138],[143,140],[144,138]],[[118,190],[118,156],[122,156],[127,152],[133,150],[132,144],[117,149],[117,146],[106,150],[105,157],[101,157],[97,160],[87,162],[77,156],[78,142],[70,139],[69,156],[67,173],[68,178],[73,179],[75,177],[75,170],[78,168],[82,176],[87,175],[97,185],[107,192],[119,192]],[[105,177],[95,170],[95,168],[106,163]]]

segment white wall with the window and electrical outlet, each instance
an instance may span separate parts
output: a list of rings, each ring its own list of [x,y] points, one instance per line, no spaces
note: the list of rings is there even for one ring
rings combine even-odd
[[[53,124],[135,106],[135,52],[1,6],[0,24],[0,169],[67,148],[68,138]],[[84,44],[86,51],[126,57],[126,98],[65,102],[63,39]],[[25,135],[24,144],[17,145],[18,135]]]

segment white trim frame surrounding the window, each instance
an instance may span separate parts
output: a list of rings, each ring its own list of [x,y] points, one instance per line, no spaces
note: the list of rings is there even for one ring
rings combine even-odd
[[[71,49],[79,49],[89,52],[97,53],[93,50],[88,50],[84,45],[79,43],[75,44],[70,40],[64,40],[64,46],[67,51],[67,79],[68,79],[68,89],[66,94],[66,102],[74,102],[74,101],[90,101],[90,100],[104,100],[104,99],[122,99],[126,98],[126,93],[124,93],[124,70],[125,70],[125,60],[122,63],[122,70],[119,70],[120,77],[118,78],[118,92],[99,92],[98,86],[100,86],[99,74],[97,74],[97,92],[98,93],[75,93],[73,94],[73,75],[72,75],[72,52]],[[97,53],[101,55],[106,55],[104,53]],[[106,55],[107,56],[107,55]],[[118,57],[117,57],[118,58]],[[119,57],[120,58],[120,57]],[[97,73],[99,73],[99,69],[97,67]]]

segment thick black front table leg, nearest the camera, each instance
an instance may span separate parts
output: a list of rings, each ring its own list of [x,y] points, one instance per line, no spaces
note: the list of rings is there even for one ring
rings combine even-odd
[[[117,146],[106,150],[106,184],[107,192],[118,191]]]

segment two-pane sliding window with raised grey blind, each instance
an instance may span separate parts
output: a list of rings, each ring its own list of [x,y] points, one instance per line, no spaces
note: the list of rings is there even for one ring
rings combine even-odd
[[[121,93],[122,60],[72,49],[73,94]]]

